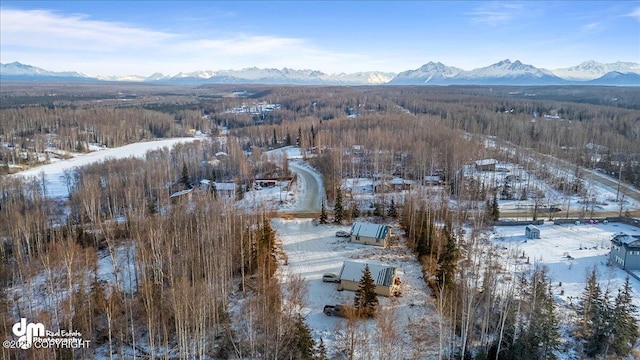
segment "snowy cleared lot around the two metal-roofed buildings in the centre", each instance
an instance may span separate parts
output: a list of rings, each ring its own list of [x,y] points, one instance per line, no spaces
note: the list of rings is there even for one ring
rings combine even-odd
[[[274,229],[282,241],[287,264],[279,272],[283,282],[290,275],[300,275],[308,285],[307,305],[303,309],[307,323],[316,340],[322,338],[327,349],[335,349],[347,320],[324,315],[324,305],[352,305],[354,292],[338,291],[338,284],[322,282],[327,272],[338,274],[344,260],[370,261],[395,266],[402,280],[400,297],[379,297],[382,309],[391,311],[396,324],[398,358],[433,357],[437,350],[438,316],[431,302],[430,290],[422,279],[420,265],[404,245],[390,248],[352,244],[338,238],[338,230],[349,231],[348,226],[313,225],[311,219],[274,219]],[[375,342],[376,320],[363,321],[362,336]],[[359,335],[360,336],[360,335]]]

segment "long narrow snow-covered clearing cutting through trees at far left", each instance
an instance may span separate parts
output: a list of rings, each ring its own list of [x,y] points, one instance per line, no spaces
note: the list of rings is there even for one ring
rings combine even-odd
[[[44,175],[44,181],[46,184],[45,195],[49,198],[67,198],[69,197],[69,190],[65,179],[65,171],[104,161],[109,158],[123,159],[128,157],[143,157],[147,151],[162,149],[164,147],[172,147],[178,143],[191,142],[195,140],[202,140],[202,138],[162,139],[129,144],[117,148],[100,148],[100,151],[94,151],[88,154],[78,154],[70,159],[38,166],[19,172],[13,176],[36,178],[38,181],[42,181],[42,176]]]

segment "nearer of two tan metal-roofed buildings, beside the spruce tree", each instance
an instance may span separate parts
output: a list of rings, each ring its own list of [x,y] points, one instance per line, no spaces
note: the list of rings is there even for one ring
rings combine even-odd
[[[376,285],[376,294],[388,297],[396,293],[400,286],[400,278],[396,275],[395,267],[356,261],[345,261],[342,264],[338,290],[358,290],[360,287],[360,279],[362,279],[364,268],[367,265],[369,265],[371,277],[373,277],[373,282]]]

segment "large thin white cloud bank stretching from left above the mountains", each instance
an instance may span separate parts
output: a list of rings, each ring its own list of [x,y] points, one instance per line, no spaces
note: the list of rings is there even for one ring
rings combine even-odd
[[[0,11],[0,58],[91,75],[150,74],[241,67],[352,69],[368,56],[318,48],[299,38],[229,34],[224,38],[161,32],[47,10]]]

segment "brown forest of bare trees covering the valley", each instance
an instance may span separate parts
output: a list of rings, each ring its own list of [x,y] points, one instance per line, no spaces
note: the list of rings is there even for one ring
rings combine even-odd
[[[526,90],[539,97],[462,87],[160,87],[144,96],[137,90],[130,103],[97,102],[112,94],[96,90],[92,99],[65,93],[46,105],[0,109],[5,173],[13,172],[10,165],[34,166],[53,154],[88,151],[91,143],[116,147],[229,131],[224,141],[212,136],[144,158],[68,171],[68,199],[47,198],[43,179],[0,177],[0,338],[10,338],[16,318],[27,317],[76,329],[93,345],[34,350],[29,358],[322,358],[301,314],[304,279],[281,283],[275,276],[282,255],[269,221],[274,214],[237,208],[233,198],[207,191],[195,192],[195,199],[170,199],[203,179],[246,189],[257,176],[287,176],[286,159],[268,159],[263,152],[289,145],[303,149],[322,174],[332,208],[344,178],[442,178],[444,190],[412,193],[403,203],[381,193],[377,214],[399,215],[407,246],[420,261],[439,316],[439,358],[553,358],[568,345],[558,335],[546,269],[509,269],[483,235],[495,219],[482,208],[449,206],[450,199],[484,203],[499,190],[481,190],[460,176],[474,160],[506,156],[469,139],[499,139],[640,182],[640,110],[629,100],[637,89],[602,91],[620,99],[618,106],[597,97],[596,88],[584,90],[584,101],[568,95],[554,100],[546,88]],[[248,95],[233,95],[239,90]],[[19,94],[23,102],[30,96],[45,95]],[[280,109],[227,112],[258,101]],[[591,156],[595,151],[601,156]],[[216,158],[218,152],[225,156]],[[345,196],[347,218],[358,216],[356,207]],[[523,261],[517,254],[510,259]],[[109,274],[99,271],[105,263],[111,264]],[[390,329],[380,339],[386,344],[380,358],[392,358],[399,336],[389,317],[388,310],[376,317]],[[616,345],[619,354],[629,350]],[[2,357],[24,358],[9,349]]]

